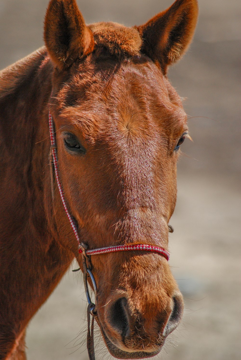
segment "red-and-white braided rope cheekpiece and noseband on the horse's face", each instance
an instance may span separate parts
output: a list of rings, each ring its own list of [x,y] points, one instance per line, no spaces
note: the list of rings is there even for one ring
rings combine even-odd
[[[54,172],[55,177],[58,184],[59,193],[61,196],[61,200],[64,206],[64,210],[68,216],[68,219],[70,221],[70,224],[72,226],[73,232],[75,234],[76,240],[79,244],[79,253],[82,253],[81,245],[80,245],[80,238],[78,235],[78,231],[75,225],[75,221],[72,219],[70,213],[68,212],[66,202],[64,199],[63,189],[61,182],[59,180],[59,172],[58,172],[58,156],[57,156],[57,144],[55,139],[55,130],[54,130],[54,122],[53,117],[49,112],[49,131],[50,131],[50,140],[51,140],[51,148],[52,148],[52,154],[53,154],[53,162],[54,162]],[[130,244],[130,245],[117,245],[117,246],[107,246],[99,249],[88,249],[86,250],[86,255],[100,255],[100,254],[107,254],[111,252],[118,252],[118,251],[149,251],[149,252],[155,252],[159,255],[162,255],[165,257],[165,259],[169,260],[169,252],[167,252],[164,248],[161,248],[159,246],[155,245],[148,245],[148,244]]]

